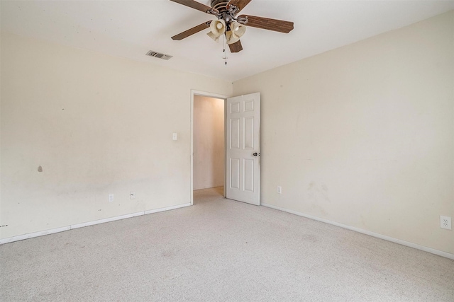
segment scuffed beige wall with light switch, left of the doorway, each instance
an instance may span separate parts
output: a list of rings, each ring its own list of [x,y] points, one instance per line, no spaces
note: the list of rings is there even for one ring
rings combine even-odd
[[[232,85],[2,33],[0,238],[189,203],[191,89]]]

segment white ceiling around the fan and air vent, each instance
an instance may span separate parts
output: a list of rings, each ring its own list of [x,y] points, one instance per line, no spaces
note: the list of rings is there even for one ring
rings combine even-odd
[[[209,0],[200,0],[209,6]],[[1,30],[104,52],[140,62],[236,81],[454,9],[454,1],[281,1],[253,0],[241,13],[293,21],[289,34],[248,28],[243,51],[222,59],[203,30],[170,39],[213,20],[170,0],[3,1]],[[170,61],[145,56],[173,55]]]

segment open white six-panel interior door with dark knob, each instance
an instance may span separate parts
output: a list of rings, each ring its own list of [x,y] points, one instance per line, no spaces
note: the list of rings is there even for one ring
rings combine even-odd
[[[226,197],[260,205],[260,93],[227,99]]]

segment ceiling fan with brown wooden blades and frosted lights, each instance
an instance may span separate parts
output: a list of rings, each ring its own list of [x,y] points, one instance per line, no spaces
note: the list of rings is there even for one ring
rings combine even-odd
[[[293,29],[293,22],[282,21],[270,18],[263,18],[250,15],[237,14],[245,8],[252,0],[211,0],[211,7],[201,4],[194,0],[170,0],[189,6],[198,11],[203,11],[210,15],[216,16],[215,21],[207,21],[200,25],[185,30],[178,35],[174,35],[172,40],[182,40],[185,37],[199,33],[199,31],[206,28],[210,28],[210,32],[207,34],[216,42],[221,35],[226,36],[226,43],[230,48],[231,52],[240,52],[243,50],[241,46],[240,37],[245,33],[245,25],[252,26],[254,28],[262,28],[265,30],[274,30],[279,33],[289,33]]]

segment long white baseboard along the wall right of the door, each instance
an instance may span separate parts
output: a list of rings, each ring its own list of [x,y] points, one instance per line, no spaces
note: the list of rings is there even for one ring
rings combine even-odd
[[[303,214],[303,213],[300,213],[298,211],[293,211],[293,210],[290,210],[290,209],[276,207],[276,206],[273,206],[272,204],[260,204],[260,205],[262,205],[263,207],[269,207],[271,209],[277,209],[279,211],[285,211],[285,212],[290,213],[290,214],[303,216],[303,217],[306,217],[306,218],[309,218],[309,219],[314,219],[316,221],[321,221],[321,222],[324,222],[324,223],[332,224],[333,226],[340,226],[341,228],[347,228],[348,230],[351,230],[351,231],[355,231],[355,232],[358,232],[358,233],[363,233],[365,235],[369,235],[369,236],[372,236],[372,237],[376,237],[376,238],[380,238],[380,239],[383,239],[383,240],[391,241],[393,243],[399,243],[399,244],[408,246],[410,248],[416,248],[417,250],[423,250],[424,252],[430,252],[431,254],[435,254],[435,255],[438,255],[438,256],[441,256],[441,257],[446,257],[446,258],[454,260],[454,254],[451,254],[449,252],[443,252],[442,250],[436,250],[434,248],[428,248],[426,246],[419,245],[419,244],[416,244],[416,243],[411,243],[409,241],[400,240],[400,239],[392,238],[392,237],[389,237],[389,236],[384,236],[384,235],[379,234],[379,233],[366,231],[366,230],[363,230],[361,228],[355,228],[354,226],[348,226],[346,224],[338,223],[336,221],[331,221],[331,220],[322,219],[322,218],[319,218],[319,217],[316,217],[316,216]]]

